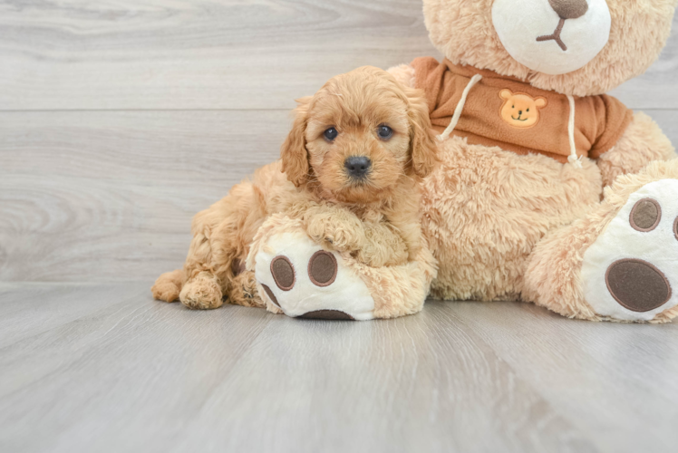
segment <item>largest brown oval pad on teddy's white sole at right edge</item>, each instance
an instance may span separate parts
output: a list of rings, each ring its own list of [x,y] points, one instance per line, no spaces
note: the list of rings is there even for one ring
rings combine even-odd
[[[671,284],[662,271],[641,259],[622,259],[607,268],[605,283],[623,307],[644,313],[671,299]]]

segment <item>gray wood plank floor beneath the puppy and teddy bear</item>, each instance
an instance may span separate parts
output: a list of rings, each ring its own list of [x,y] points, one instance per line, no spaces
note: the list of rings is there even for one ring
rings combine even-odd
[[[678,325],[430,302],[366,323],[0,285],[0,450],[675,451]]]

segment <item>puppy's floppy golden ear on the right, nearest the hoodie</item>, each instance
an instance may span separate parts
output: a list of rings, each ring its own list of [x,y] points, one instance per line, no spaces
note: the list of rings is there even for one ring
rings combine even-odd
[[[420,178],[427,177],[438,164],[438,145],[431,127],[429,106],[419,90],[406,89],[409,101],[410,152],[412,171]]]

